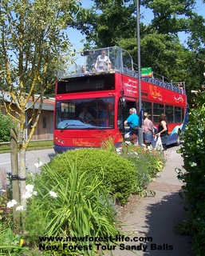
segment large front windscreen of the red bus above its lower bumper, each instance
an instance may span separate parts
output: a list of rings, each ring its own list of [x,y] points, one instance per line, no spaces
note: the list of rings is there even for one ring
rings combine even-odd
[[[114,98],[81,98],[56,103],[56,129],[112,128],[113,126]]]

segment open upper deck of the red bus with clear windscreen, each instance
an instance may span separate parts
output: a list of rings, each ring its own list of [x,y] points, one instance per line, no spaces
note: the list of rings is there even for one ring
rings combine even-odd
[[[101,60],[102,53],[105,54],[107,62],[97,66],[97,60]],[[65,79],[79,77],[83,75],[95,75],[102,73],[120,73],[133,78],[139,78],[138,72],[134,69],[136,64],[127,50],[118,46],[106,47],[97,50],[85,50],[75,54],[72,61],[66,62],[64,71],[59,71],[58,78]],[[136,66],[137,67],[137,66]],[[141,80],[150,82],[156,86],[161,86],[168,90],[173,90],[179,94],[185,94],[184,82],[173,82],[159,74],[141,75]],[[99,88],[101,89],[101,88]]]

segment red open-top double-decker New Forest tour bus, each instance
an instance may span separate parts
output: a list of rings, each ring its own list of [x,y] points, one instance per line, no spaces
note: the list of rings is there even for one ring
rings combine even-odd
[[[102,50],[106,62],[101,63]],[[101,63],[101,64],[99,64]],[[101,65],[98,66],[97,65]],[[179,144],[187,123],[185,86],[159,78],[141,78],[142,110],[157,126],[160,114],[168,118],[168,144]],[[56,83],[54,113],[54,150],[101,147],[112,138],[116,147],[124,141],[124,120],[128,110],[138,114],[139,79],[132,57],[120,47],[88,50],[76,54],[73,65]]]

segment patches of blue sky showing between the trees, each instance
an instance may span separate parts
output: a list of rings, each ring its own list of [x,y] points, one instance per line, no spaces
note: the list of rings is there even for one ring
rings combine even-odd
[[[81,4],[84,8],[89,8],[93,5],[91,0],[81,0]],[[151,10],[141,10],[144,12],[144,23],[149,23],[152,20],[152,11]],[[202,15],[205,18],[205,4],[203,0],[197,0],[197,4],[195,6],[195,12]],[[69,41],[73,44],[73,48],[75,50],[81,50],[83,48],[83,43],[81,40],[85,39],[85,36],[81,34],[78,30],[73,30],[72,28],[68,29]],[[187,35],[184,33],[180,34],[181,42],[186,42]]]

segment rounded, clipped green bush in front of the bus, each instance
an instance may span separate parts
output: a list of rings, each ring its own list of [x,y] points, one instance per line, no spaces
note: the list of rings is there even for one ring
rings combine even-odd
[[[101,174],[104,186],[121,204],[128,202],[129,195],[136,192],[136,167],[116,153],[101,149],[69,150],[57,155],[48,165],[67,178],[71,169],[70,162],[76,162],[78,171],[86,171],[93,178]]]

